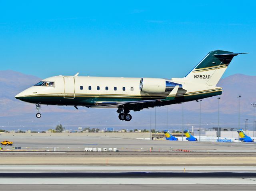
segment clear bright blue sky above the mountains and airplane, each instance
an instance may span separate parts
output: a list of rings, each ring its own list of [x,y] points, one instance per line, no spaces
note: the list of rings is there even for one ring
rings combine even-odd
[[[0,70],[172,78],[208,52],[250,52],[225,76],[255,75],[254,1],[3,1]]]

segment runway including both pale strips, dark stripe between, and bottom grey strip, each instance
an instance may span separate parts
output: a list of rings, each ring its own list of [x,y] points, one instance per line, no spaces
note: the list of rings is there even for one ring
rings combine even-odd
[[[185,168],[0,165],[0,190],[255,190],[256,167]]]

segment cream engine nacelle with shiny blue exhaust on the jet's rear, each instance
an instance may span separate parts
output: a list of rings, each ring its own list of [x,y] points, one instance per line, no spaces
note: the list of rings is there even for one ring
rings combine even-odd
[[[175,86],[179,86],[179,90],[182,89],[181,84],[169,82],[162,78],[141,78],[140,80],[140,91],[148,94],[171,92]]]

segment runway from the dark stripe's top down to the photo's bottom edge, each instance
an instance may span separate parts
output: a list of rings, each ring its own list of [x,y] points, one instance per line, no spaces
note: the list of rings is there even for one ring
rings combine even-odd
[[[1,182],[0,190],[255,190],[256,173],[1,173]]]

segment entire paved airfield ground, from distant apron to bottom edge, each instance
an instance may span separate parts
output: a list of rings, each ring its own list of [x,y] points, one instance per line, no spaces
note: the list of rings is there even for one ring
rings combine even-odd
[[[256,186],[254,143],[22,137],[20,133],[4,139],[14,145],[2,146],[0,152],[0,190],[211,191]],[[112,147],[119,152],[84,152],[84,147]]]

